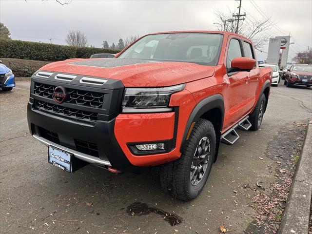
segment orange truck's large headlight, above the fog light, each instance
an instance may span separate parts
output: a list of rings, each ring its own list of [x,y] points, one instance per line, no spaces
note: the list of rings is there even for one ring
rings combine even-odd
[[[168,112],[172,94],[183,90],[185,84],[162,88],[126,88],[122,100],[123,113]]]

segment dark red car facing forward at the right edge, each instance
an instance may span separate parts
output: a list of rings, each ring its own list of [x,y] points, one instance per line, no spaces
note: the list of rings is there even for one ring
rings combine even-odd
[[[305,85],[308,88],[312,85],[312,65],[309,64],[293,64],[286,74],[284,84],[287,87],[292,85]]]

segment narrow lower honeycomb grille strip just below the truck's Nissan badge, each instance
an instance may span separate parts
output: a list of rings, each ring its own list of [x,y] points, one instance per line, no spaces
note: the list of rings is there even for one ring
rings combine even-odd
[[[68,108],[56,104],[51,104],[45,101],[35,100],[34,102],[35,108],[39,109],[44,112],[48,112],[54,115],[59,115],[62,117],[68,117],[78,120],[84,121],[97,121],[98,120],[98,113],[88,112],[88,111],[81,111],[73,108]]]

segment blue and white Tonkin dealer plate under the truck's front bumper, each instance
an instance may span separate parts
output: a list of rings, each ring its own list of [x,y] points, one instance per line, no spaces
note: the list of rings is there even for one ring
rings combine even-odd
[[[73,154],[63,151],[53,145],[49,146],[48,162],[67,172],[72,172]]]

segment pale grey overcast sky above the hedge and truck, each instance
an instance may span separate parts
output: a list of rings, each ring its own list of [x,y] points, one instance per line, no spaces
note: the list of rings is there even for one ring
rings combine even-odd
[[[66,2],[66,0],[59,0]],[[68,2],[68,0],[67,0]],[[69,30],[84,32],[88,43],[101,47],[103,40],[170,30],[216,30],[214,9],[237,13],[235,0],[0,0],[0,22],[12,39],[66,44]],[[246,18],[272,17],[270,36],[292,36],[289,53],[312,46],[312,0],[242,0]],[[257,9],[259,7],[262,12]],[[245,24],[246,26],[246,24]],[[267,52],[267,46],[263,51]],[[258,60],[267,58],[257,53]]]

